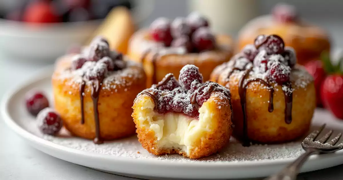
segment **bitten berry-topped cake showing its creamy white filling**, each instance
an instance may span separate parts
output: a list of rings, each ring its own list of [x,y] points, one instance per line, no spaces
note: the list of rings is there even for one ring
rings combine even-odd
[[[214,82],[203,83],[194,65],[181,69],[179,81],[169,73],[139,93],[132,108],[138,140],[155,155],[209,156],[232,133],[229,90]]]

